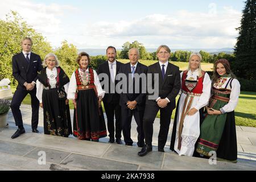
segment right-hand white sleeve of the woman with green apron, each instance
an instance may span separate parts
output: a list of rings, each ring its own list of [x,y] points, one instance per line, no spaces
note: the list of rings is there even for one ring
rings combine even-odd
[[[239,95],[240,95],[240,83],[237,79],[234,79],[232,81],[230,100],[228,104],[226,104],[224,107],[220,109],[221,113],[229,113],[233,111],[237,106]]]

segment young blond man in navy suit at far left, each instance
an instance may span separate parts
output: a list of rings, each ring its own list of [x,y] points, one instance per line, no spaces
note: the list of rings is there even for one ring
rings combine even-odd
[[[11,111],[18,130],[11,136],[17,138],[19,135],[25,133],[22,121],[22,114],[20,112],[20,104],[27,96],[31,96],[32,119],[31,127],[33,133],[39,133],[38,118],[39,118],[39,101],[36,98],[36,80],[38,72],[41,71],[42,61],[39,55],[31,52],[32,40],[31,38],[24,38],[21,42],[22,52],[13,56],[13,76],[18,81],[18,86],[11,101]]]

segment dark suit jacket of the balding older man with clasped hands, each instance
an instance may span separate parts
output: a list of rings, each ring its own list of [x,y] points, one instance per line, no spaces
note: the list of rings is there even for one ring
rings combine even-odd
[[[142,88],[146,87],[146,79],[144,80],[144,82],[142,82],[142,79],[139,79],[139,93],[135,93],[135,79],[133,81],[133,93],[129,93],[129,88],[131,87],[131,85],[129,85],[129,74],[131,73],[131,64],[127,63],[124,64],[120,67],[119,69],[119,73],[124,73],[126,75],[127,78],[127,93],[121,93],[120,94],[120,101],[119,104],[122,107],[125,107],[128,109],[126,102],[127,101],[137,101],[137,110],[143,110],[145,107],[145,102],[146,102],[146,93],[142,93]],[[139,75],[141,73],[144,73],[145,75],[147,74],[147,67],[144,64],[141,64],[138,62],[137,64],[137,68],[135,69],[134,73],[138,73]],[[131,76],[131,75],[130,75]]]

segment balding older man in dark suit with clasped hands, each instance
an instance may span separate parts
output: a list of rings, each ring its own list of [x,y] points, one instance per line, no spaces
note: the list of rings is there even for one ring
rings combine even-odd
[[[123,76],[126,78],[124,85],[126,89],[121,93],[119,102],[122,109],[123,138],[125,139],[126,145],[133,146],[133,140],[131,139],[131,119],[134,116],[138,132],[137,145],[138,147],[143,147],[145,143],[142,121],[146,102],[147,67],[138,62],[139,50],[137,48],[131,48],[128,54],[130,63],[122,65],[119,69],[119,74],[123,73]],[[139,78],[140,76],[142,78]],[[131,89],[129,90],[129,88]]]

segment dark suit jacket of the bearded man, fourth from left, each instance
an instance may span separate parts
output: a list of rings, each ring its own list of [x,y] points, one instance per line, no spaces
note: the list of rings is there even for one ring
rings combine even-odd
[[[123,63],[120,63],[119,61],[117,62],[117,72],[116,75],[118,74],[119,68],[121,65],[123,65]],[[118,103],[119,102],[119,94],[118,93],[110,93],[110,81],[111,80],[111,76],[110,76],[110,71],[109,71],[109,61],[105,61],[105,63],[102,63],[98,66],[98,70],[97,70],[97,74],[99,75],[100,73],[106,73],[109,77],[109,90],[105,89],[105,86],[102,85],[102,89],[105,90],[108,93],[105,93],[105,96],[103,98],[103,102],[105,103]],[[100,79],[100,82],[104,81],[104,79]],[[115,80],[115,85],[118,83],[117,80]]]

